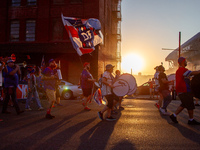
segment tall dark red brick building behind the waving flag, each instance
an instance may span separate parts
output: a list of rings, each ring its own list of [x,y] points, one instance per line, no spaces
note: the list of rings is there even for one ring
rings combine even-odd
[[[68,17],[97,18],[102,25],[103,43],[92,54],[78,56],[63,26],[61,13]],[[60,60],[63,78],[78,83],[84,61],[98,79],[105,65],[120,69],[121,0],[5,0],[0,5],[0,56],[14,53],[17,62],[40,66],[44,56]],[[31,59],[27,59],[27,55]]]

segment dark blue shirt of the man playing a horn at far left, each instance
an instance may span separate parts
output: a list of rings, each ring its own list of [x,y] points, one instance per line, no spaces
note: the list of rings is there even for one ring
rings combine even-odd
[[[3,73],[5,88],[10,87],[10,86],[17,87],[18,83],[19,83],[18,74],[15,73],[14,75],[9,75],[9,73],[14,70],[14,68],[11,68],[9,66],[7,66],[7,70],[8,70],[7,73],[5,73],[5,72]]]

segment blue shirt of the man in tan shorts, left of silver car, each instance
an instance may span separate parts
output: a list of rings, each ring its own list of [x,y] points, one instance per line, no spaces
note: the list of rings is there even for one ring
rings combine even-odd
[[[50,67],[47,67],[44,69],[42,74],[44,76],[50,77],[51,75],[54,75],[56,72],[55,70],[51,69]],[[50,89],[50,90],[56,90],[57,85],[57,79],[45,79],[44,80],[44,89]]]

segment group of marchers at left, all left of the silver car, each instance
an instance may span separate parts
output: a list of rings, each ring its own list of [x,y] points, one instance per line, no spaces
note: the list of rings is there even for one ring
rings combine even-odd
[[[38,67],[39,68],[39,67]],[[39,68],[38,76],[36,77],[36,66],[27,66],[27,75],[23,80],[26,80],[28,83],[28,96],[26,99],[25,110],[32,110],[30,107],[31,100],[35,100],[38,106],[38,110],[44,110],[41,105],[40,98],[38,95],[38,87],[37,80],[43,81],[45,90],[45,95],[49,101],[49,108],[46,112],[46,118],[52,119],[55,116],[51,115],[51,109],[54,107],[56,103],[58,106],[62,106],[60,104],[60,95],[57,91],[58,89],[58,74],[57,74],[57,64],[54,59],[49,60],[49,66],[44,70]],[[1,58],[0,63],[0,87],[2,89],[1,96],[3,95],[3,107],[2,114],[10,114],[7,111],[8,103],[11,100],[13,106],[16,109],[16,113],[20,115],[24,112],[21,110],[17,101],[17,93],[16,89],[19,84],[19,75],[21,74],[20,66],[15,64],[14,60],[10,58]],[[2,121],[2,119],[0,120]]]

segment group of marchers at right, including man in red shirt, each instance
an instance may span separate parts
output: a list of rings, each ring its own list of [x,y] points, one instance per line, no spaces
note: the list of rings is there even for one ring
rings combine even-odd
[[[177,110],[173,114],[169,114],[167,112],[167,106],[172,101],[171,91],[169,89],[169,85],[174,85],[174,80],[168,81],[168,78],[166,76],[165,68],[160,65],[156,67],[156,73],[154,75],[155,79],[155,89],[157,90],[159,94],[159,100],[155,104],[155,106],[160,110],[160,112],[163,115],[170,115],[171,120],[174,123],[178,123],[177,116],[178,114],[186,108],[189,115],[188,124],[189,125],[200,125],[199,122],[197,122],[194,119],[194,109],[195,106],[199,106],[197,101],[196,104],[194,104],[194,97],[195,92],[191,88],[191,76],[200,74],[200,71],[190,71],[186,68],[187,61],[184,57],[180,57],[178,59],[179,68],[176,71],[176,93],[181,101],[180,106],[177,108]],[[198,92],[199,93],[199,92]],[[198,96],[196,96],[197,99]]]

